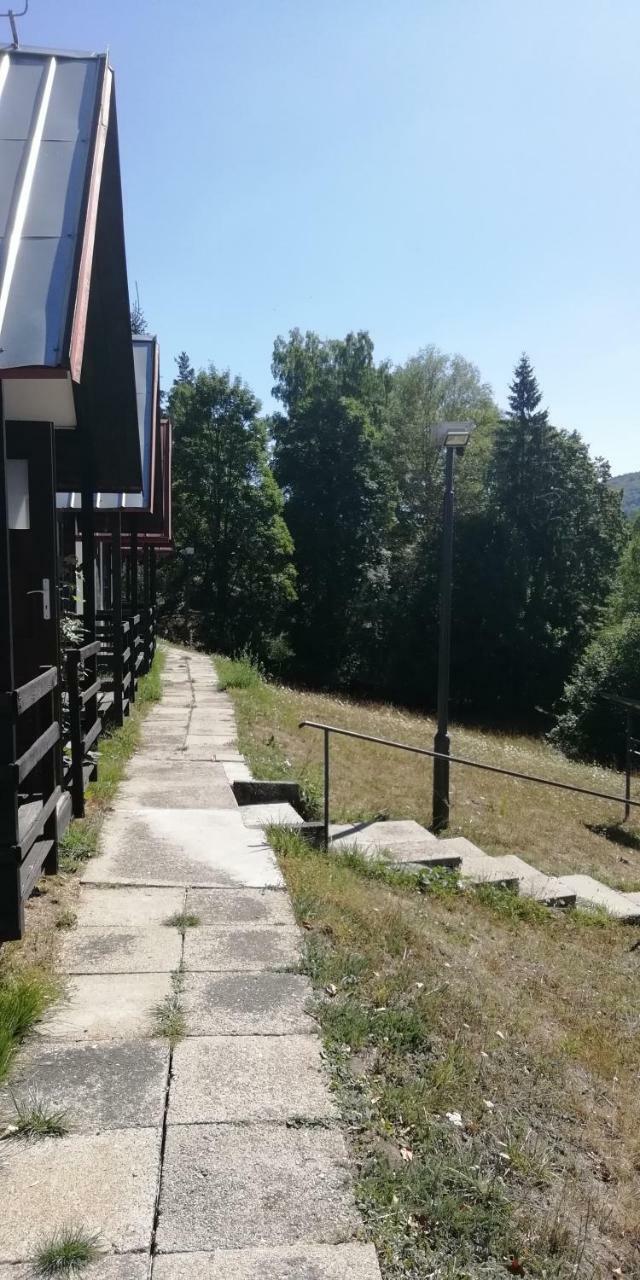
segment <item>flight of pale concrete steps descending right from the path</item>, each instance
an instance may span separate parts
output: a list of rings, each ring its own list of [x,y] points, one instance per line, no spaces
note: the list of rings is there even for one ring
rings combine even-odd
[[[248,804],[241,813],[250,827],[303,826],[288,801]],[[438,838],[412,819],[334,823],[330,836],[335,852],[355,850],[364,858],[381,858],[407,870],[448,867],[460,872],[461,882],[470,887],[495,884],[548,906],[600,908],[618,920],[640,922],[640,893],[618,892],[591,876],[545,876],[515,854],[492,856],[463,836]]]

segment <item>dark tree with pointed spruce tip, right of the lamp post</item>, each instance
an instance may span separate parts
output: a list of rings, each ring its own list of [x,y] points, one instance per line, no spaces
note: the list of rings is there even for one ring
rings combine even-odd
[[[602,618],[623,541],[608,465],[577,431],[552,426],[540,402],[522,356],[488,471],[484,558],[499,594],[476,636],[490,654],[481,685],[511,714],[550,710]],[[492,664],[499,676],[488,680]]]

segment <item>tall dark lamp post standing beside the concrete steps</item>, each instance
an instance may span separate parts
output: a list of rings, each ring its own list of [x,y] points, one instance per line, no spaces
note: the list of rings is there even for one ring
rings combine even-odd
[[[440,568],[440,622],[438,645],[438,727],[434,737],[433,831],[449,826],[449,666],[451,666],[451,599],[453,585],[453,463],[465,452],[475,422],[438,422],[434,439],[445,451],[444,518]]]

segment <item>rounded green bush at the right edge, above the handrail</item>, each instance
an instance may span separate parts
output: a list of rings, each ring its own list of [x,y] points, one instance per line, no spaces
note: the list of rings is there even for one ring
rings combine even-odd
[[[564,687],[549,741],[567,755],[625,762],[625,709],[603,695],[640,699],[640,616],[605,627],[585,649]]]

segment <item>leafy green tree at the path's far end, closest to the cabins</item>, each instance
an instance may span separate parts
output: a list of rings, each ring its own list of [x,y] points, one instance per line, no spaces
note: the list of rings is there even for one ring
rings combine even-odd
[[[179,372],[187,371],[179,361]],[[210,366],[178,376],[169,413],[177,556],[168,568],[166,612],[183,620],[188,612],[209,648],[248,648],[269,660],[296,590],[260,403],[238,378]],[[180,556],[186,547],[193,547],[188,558]]]

